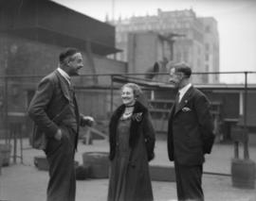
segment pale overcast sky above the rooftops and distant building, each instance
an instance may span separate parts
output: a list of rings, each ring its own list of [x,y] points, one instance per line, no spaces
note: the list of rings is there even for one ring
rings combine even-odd
[[[214,17],[220,36],[220,71],[256,71],[255,0],[53,0],[90,17],[105,21],[156,15],[163,11],[192,8],[198,17]],[[256,76],[254,76],[256,77]],[[225,75],[222,80],[240,82],[241,76]],[[251,78],[249,77],[250,81]],[[256,83],[256,80],[253,81]]]

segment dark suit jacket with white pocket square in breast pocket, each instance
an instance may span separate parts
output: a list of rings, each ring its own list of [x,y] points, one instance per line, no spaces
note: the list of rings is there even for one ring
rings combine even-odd
[[[168,124],[169,159],[183,165],[202,164],[214,142],[210,102],[191,87],[177,105],[171,109]]]

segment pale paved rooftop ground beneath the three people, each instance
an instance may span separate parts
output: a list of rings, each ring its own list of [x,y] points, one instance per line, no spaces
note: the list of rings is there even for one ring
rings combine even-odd
[[[45,201],[47,172],[39,171],[33,165],[34,156],[44,156],[41,151],[31,149],[24,142],[24,164],[10,164],[2,168],[0,176],[0,201]],[[94,141],[92,145],[79,144],[76,159],[82,163],[82,153],[107,151],[108,144]],[[250,147],[250,159],[256,161],[256,147]],[[232,145],[215,144],[212,154],[207,156],[205,172],[230,174],[230,160],[233,157]],[[19,161],[19,160],[18,160]],[[173,165],[167,159],[166,142],[155,145],[155,159],[151,164]],[[107,195],[107,179],[77,181],[77,201],[104,201]],[[256,190],[233,188],[230,176],[204,174],[203,188],[206,201],[256,201]],[[175,183],[153,181],[155,201],[176,199]]]

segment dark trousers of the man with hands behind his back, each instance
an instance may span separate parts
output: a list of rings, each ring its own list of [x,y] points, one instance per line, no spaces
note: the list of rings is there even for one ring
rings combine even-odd
[[[176,190],[179,201],[204,201],[202,190],[202,165],[185,166],[174,162]]]

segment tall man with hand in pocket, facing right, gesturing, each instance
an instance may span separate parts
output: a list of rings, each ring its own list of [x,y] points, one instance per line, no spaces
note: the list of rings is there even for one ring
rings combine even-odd
[[[47,201],[74,201],[76,177],[74,154],[79,126],[91,125],[92,117],[79,113],[70,76],[79,75],[82,54],[67,48],[59,56],[59,67],[46,75],[28,107],[34,121],[32,146],[43,149],[49,164]]]

